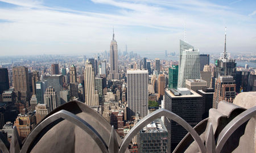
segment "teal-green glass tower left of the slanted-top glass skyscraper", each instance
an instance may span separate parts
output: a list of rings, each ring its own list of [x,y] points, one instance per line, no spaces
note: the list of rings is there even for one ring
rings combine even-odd
[[[168,75],[169,75],[169,88],[175,88],[177,89],[177,76],[179,72],[179,65],[172,65],[172,67],[169,67]]]

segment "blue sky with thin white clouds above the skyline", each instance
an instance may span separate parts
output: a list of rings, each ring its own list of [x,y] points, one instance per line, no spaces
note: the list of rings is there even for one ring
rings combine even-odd
[[[256,1],[0,0],[0,56],[92,54],[118,49],[177,52],[179,39],[201,53],[256,53]]]

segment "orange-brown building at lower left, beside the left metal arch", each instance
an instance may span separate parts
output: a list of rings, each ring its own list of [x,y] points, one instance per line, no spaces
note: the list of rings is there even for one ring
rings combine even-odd
[[[19,114],[19,116],[14,121],[14,126],[16,126],[18,130],[19,137],[21,139],[26,138],[32,130],[31,116]]]

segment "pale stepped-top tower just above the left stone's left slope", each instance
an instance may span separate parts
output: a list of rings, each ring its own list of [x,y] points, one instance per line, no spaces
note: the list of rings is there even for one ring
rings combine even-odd
[[[57,108],[57,94],[54,87],[47,87],[46,92],[44,92],[44,104],[49,107],[49,110]]]

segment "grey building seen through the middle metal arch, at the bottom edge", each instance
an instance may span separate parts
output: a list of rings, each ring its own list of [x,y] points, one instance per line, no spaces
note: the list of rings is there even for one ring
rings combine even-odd
[[[139,152],[170,152],[167,146],[168,131],[162,120],[157,119],[139,131]]]

